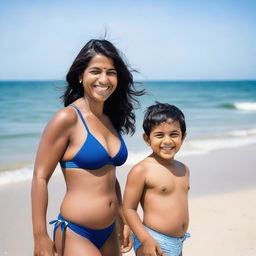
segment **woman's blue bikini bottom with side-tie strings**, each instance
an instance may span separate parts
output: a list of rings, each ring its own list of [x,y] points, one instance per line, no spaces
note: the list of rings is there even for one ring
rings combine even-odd
[[[104,229],[91,229],[91,228],[87,228],[87,227],[75,224],[71,221],[68,221],[64,219],[61,216],[61,214],[59,214],[57,220],[53,220],[49,222],[49,224],[54,224],[54,230],[53,230],[54,240],[55,240],[55,233],[58,227],[61,227],[63,234],[65,233],[65,229],[68,227],[76,234],[87,238],[98,249],[100,249],[102,245],[106,242],[106,240],[109,238],[115,226],[115,223],[113,223],[112,225]]]

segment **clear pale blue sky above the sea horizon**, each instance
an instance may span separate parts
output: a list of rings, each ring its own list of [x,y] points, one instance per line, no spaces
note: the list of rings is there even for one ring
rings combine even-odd
[[[62,80],[92,38],[138,80],[256,79],[256,1],[0,0],[0,80]]]

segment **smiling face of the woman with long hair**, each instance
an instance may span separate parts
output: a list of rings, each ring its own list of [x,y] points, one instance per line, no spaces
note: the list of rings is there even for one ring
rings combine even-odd
[[[104,102],[117,87],[117,72],[113,60],[97,54],[80,77],[86,97]]]

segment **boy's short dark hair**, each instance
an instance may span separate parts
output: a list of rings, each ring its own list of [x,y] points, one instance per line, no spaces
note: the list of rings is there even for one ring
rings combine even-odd
[[[179,108],[168,103],[156,102],[155,105],[147,108],[143,120],[144,132],[149,136],[154,126],[166,122],[169,118],[180,123],[182,138],[184,138],[186,133],[185,116]]]

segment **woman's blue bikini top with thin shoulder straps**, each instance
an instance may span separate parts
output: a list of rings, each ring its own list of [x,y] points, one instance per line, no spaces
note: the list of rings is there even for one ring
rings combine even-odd
[[[127,148],[125,146],[122,136],[118,133],[120,139],[120,148],[117,154],[114,157],[111,157],[107,150],[101,145],[101,143],[90,133],[88,126],[85,123],[85,120],[82,116],[82,113],[77,108],[77,106],[71,104],[70,106],[74,107],[85,128],[87,131],[87,138],[80,148],[70,161],[60,161],[60,166],[62,168],[81,168],[95,170],[103,167],[104,165],[110,164],[114,166],[122,165],[127,159]]]

